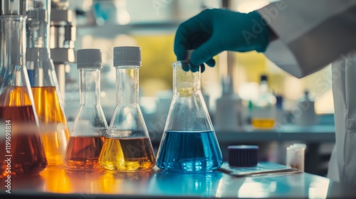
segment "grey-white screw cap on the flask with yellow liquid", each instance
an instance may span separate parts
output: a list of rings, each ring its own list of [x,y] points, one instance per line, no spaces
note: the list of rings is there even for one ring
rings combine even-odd
[[[125,65],[141,66],[141,48],[120,46],[114,48],[114,67]]]

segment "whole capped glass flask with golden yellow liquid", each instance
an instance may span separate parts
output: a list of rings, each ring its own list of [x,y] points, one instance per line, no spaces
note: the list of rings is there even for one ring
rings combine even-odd
[[[108,170],[148,171],[156,163],[138,104],[140,66],[140,47],[114,48],[117,105],[99,158],[100,166]]]

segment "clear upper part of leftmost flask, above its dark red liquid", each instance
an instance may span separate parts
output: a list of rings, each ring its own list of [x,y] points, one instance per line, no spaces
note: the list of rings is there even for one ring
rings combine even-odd
[[[0,26],[0,104],[31,105],[33,95],[25,63],[26,16],[0,16]]]

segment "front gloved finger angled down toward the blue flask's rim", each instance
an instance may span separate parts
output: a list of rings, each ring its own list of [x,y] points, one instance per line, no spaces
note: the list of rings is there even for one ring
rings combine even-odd
[[[222,51],[223,50],[219,48],[219,41],[215,41],[214,38],[210,38],[206,41],[206,43],[203,43],[199,46],[199,48],[194,50],[190,60],[194,65],[201,65],[202,63],[214,65],[211,61],[212,58]]]

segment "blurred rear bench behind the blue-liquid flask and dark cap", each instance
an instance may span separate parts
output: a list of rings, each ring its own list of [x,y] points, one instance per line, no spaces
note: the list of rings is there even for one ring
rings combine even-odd
[[[163,130],[154,131],[150,127],[152,126],[147,125],[152,146],[157,152]],[[290,124],[273,129],[253,129],[251,126],[244,126],[234,131],[215,129],[215,134],[216,139],[219,141],[224,161],[228,159],[228,146],[248,144],[260,147],[258,151],[259,161],[286,163],[286,147],[288,144],[304,143],[307,145],[305,150],[305,171],[320,176],[326,176],[328,172],[328,161],[335,144],[335,126],[333,124],[310,127]]]

